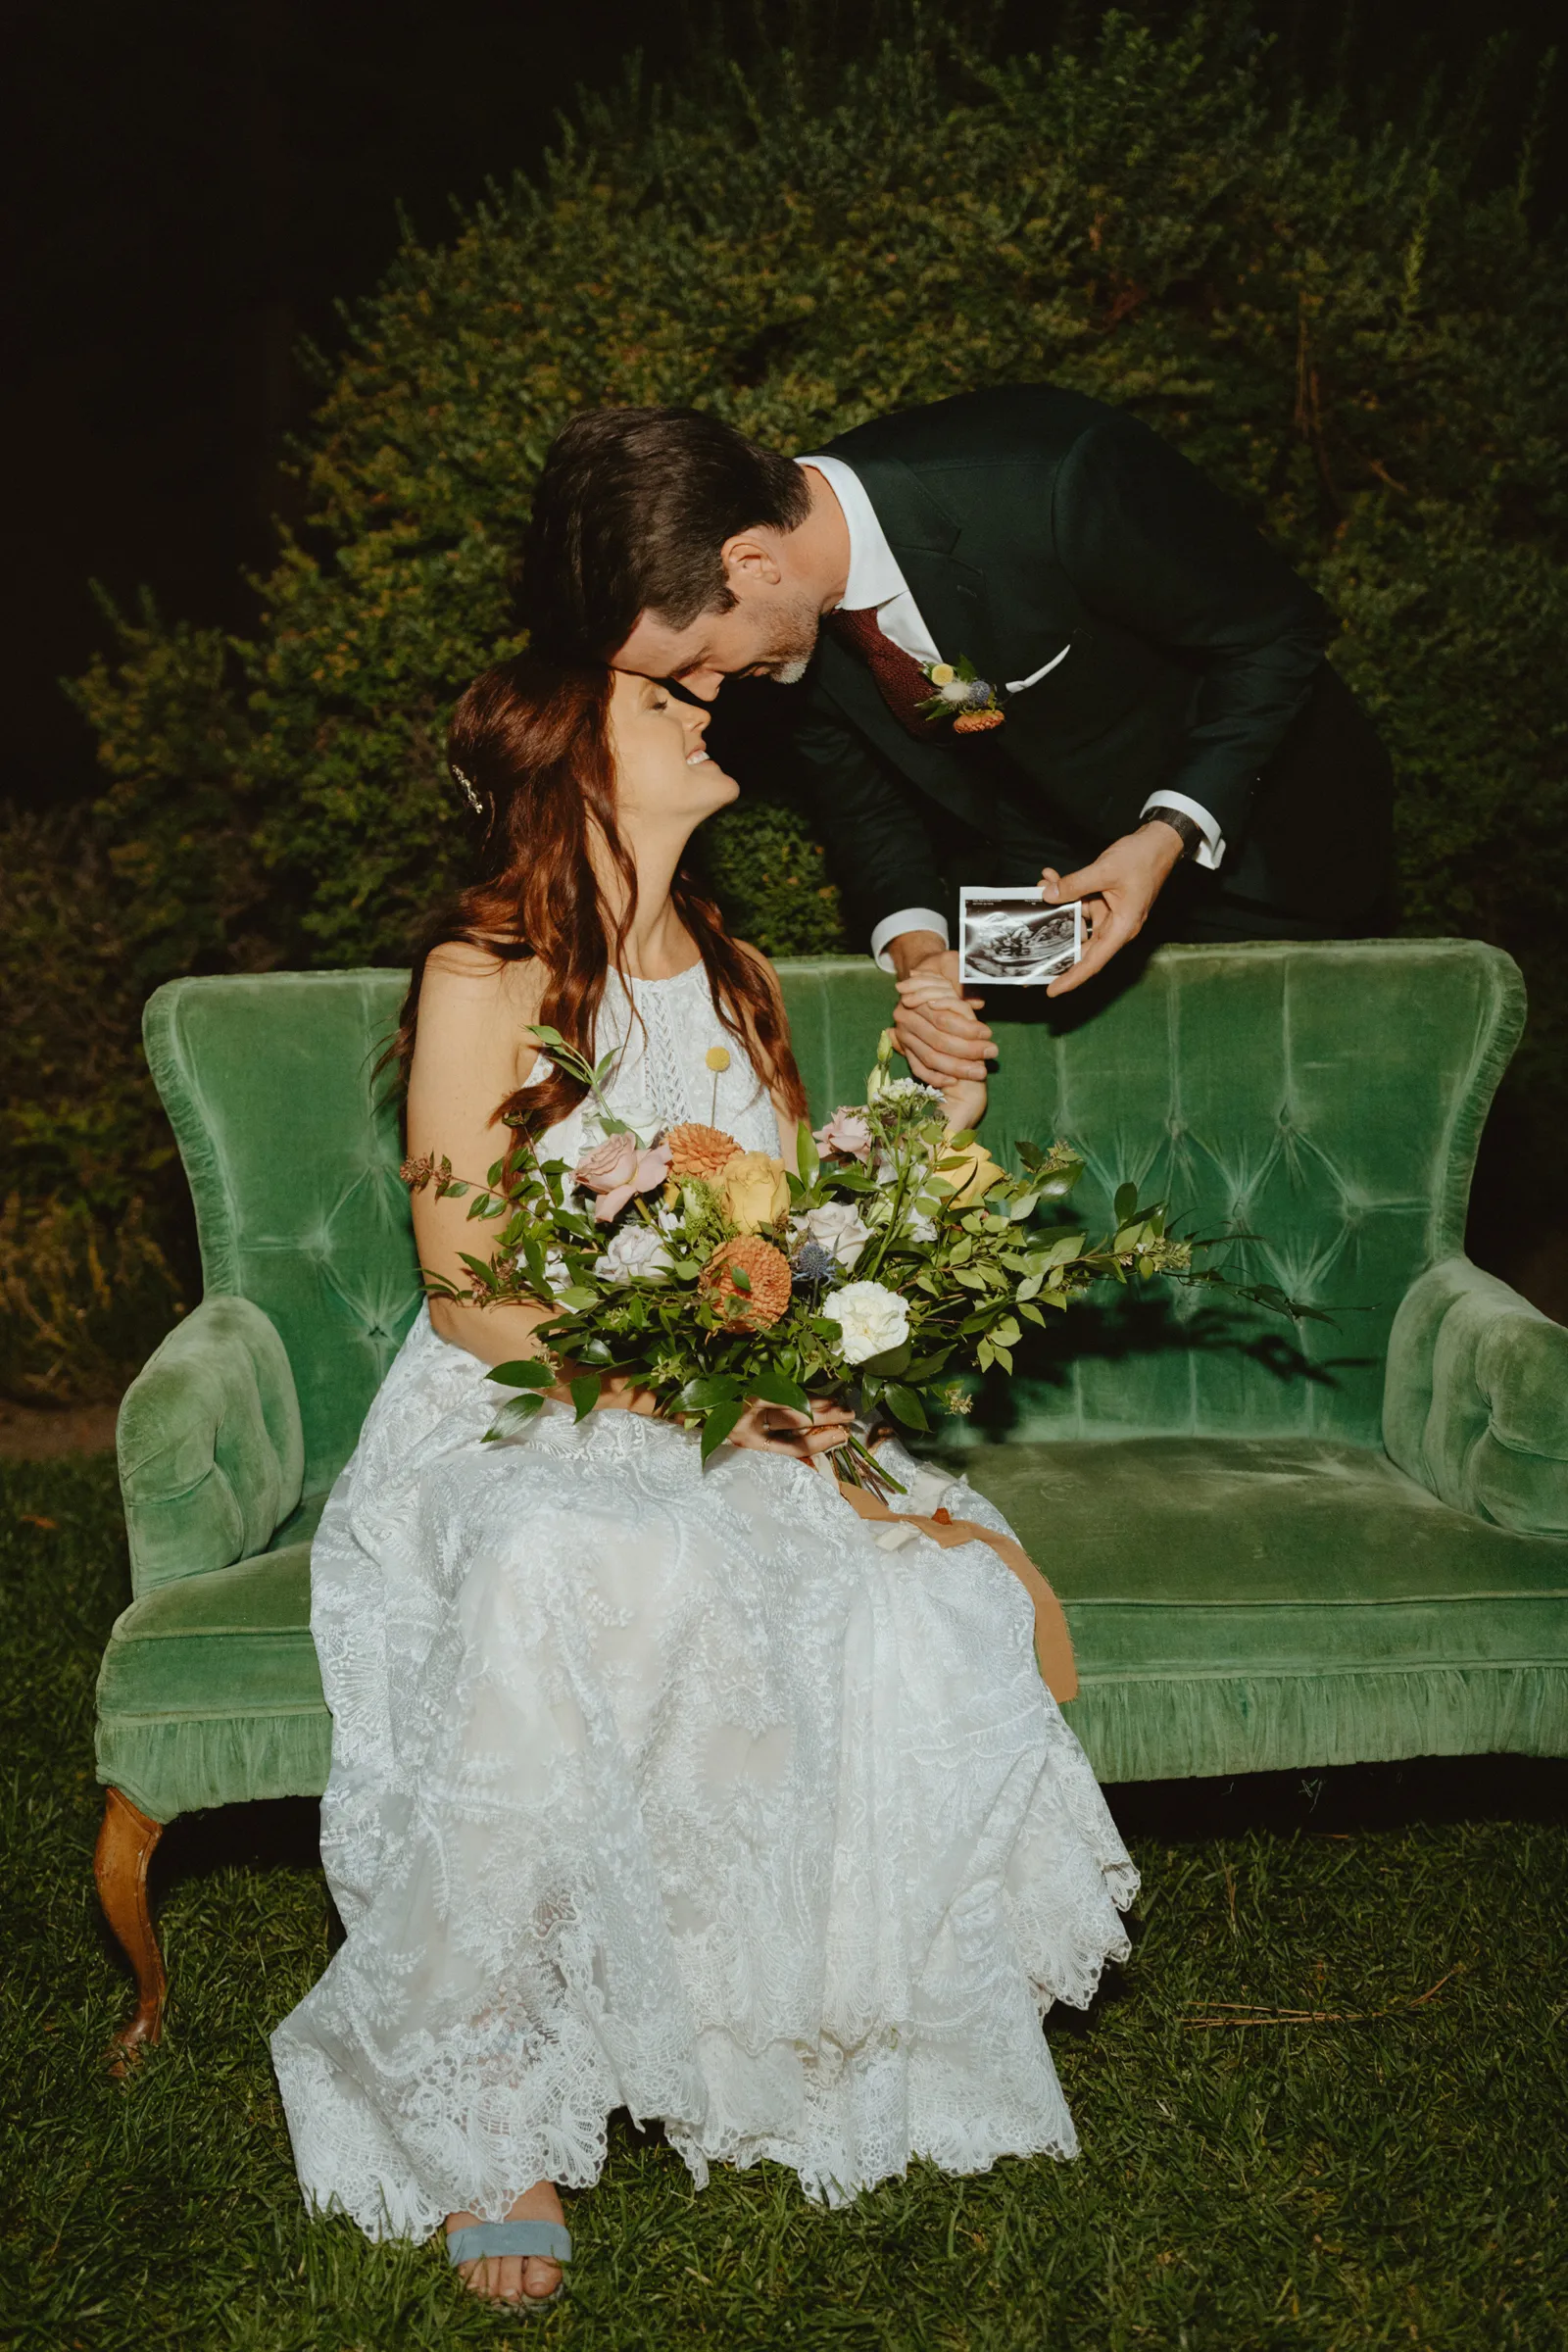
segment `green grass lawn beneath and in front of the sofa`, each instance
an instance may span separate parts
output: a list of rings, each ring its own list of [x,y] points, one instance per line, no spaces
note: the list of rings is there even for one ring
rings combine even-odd
[[[1077,2164],[924,2166],[820,2213],[776,2169],[715,2171],[698,2197],[621,2117],[571,2204],[564,2305],[517,2321],[437,2251],[301,2211],[266,2034],[327,1957],[313,1806],[169,1830],[169,2032],[125,2084],[103,2072],[129,1987],[92,1891],[92,1684],[127,1592],[108,1461],[0,1465],[0,1576],[5,2343],[1568,2340],[1566,1766],[1112,1790],[1145,1896],[1131,1964],[1086,2018],[1051,2020]]]

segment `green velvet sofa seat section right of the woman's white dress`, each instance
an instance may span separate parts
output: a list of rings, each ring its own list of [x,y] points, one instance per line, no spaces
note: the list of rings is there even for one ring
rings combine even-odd
[[[1568,1543],[1368,1446],[969,1446],[1067,1611],[1107,1780],[1568,1748]]]

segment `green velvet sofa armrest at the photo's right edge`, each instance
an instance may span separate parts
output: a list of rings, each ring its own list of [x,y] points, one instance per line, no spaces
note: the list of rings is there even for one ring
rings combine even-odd
[[[1429,1265],[1389,1334],[1382,1442],[1455,1510],[1568,1536],[1568,1329],[1469,1258]]]

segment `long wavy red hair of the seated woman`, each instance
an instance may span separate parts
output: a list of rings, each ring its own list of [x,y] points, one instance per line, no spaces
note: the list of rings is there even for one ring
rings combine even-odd
[[[614,670],[562,670],[517,654],[475,677],[451,713],[447,757],[480,804],[489,873],[456,901],[414,960],[393,1056],[404,1082],[418,1030],[418,990],[430,953],[449,941],[484,948],[505,962],[538,957],[545,993],[541,1028],[555,1028],[590,1061],[611,967],[623,969],[637,913],[637,868],[616,823],[616,760],[609,743]],[[599,840],[625,889],[616,922],[595,873]],[[670,898],[696,941],[722,1025],[757,1063],[769,1089],[795,1117],[806,1115],[790,1033],[759,964],[736,946],[717,906],[682,868]],[[550,1070],[501,1103],[508,1127],[541,1134],[583,1101],[585,1087]]]

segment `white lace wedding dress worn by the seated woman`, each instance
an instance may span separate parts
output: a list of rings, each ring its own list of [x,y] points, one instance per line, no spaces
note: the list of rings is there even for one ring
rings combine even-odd
[[[616,1108],[710,1120],[703,969],[632,985]],[[778,1148],[738,1051],[717,1122]],[[1039,2018],[1138,1879],[1023,1585],[635,1414],[482,1444],[498,1395],[421,1312],[315,1538],[348,1938],[273,2037],[306,2199],[498,2220],[592,2183],[614,2107],[698,2183],[771,2157],[835,2204],[912,2154],[1072,2154]]]

